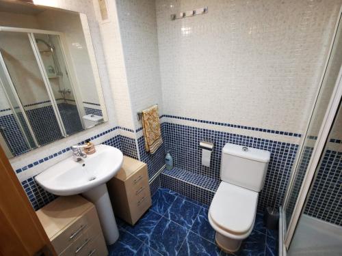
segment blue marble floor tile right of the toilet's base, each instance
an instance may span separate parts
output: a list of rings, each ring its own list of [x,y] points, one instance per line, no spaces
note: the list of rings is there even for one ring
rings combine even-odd
[[[266,235],[257,230],[253,230],[246,238],[235,255],[238,256],[263,256],[265,255]]]

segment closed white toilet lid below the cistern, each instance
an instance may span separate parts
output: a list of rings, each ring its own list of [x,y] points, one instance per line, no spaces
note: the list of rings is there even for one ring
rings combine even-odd
[[[247,233],[254,223],[258,193],[221,182],[211,202],[211,219],[228,233]]]

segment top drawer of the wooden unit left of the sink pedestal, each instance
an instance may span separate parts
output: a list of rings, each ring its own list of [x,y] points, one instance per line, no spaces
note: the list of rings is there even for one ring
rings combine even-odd
[[[53,238],[51,244],[53,245],[53,248],[55,248],[56,253],[62,253],[65,248],[83,236],[96,219],[96,210],[95,208],[91,208],[86,214],[77,219],[75,223],[70,225],[68,229],[62,231],[57,237]],[[97,223],[94,226],[98,226]]]

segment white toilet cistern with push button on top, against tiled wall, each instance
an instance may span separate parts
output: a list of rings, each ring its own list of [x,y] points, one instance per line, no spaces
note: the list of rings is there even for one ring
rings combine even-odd
[[[270,156],[266,150],[226,143],[222,149],[221,180],[260,192]]]

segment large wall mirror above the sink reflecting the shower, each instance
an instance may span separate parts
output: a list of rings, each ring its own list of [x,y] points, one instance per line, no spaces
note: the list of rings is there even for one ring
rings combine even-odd
[[[86,15],[0,1],[0,144],[8,158],[106,121]]]

